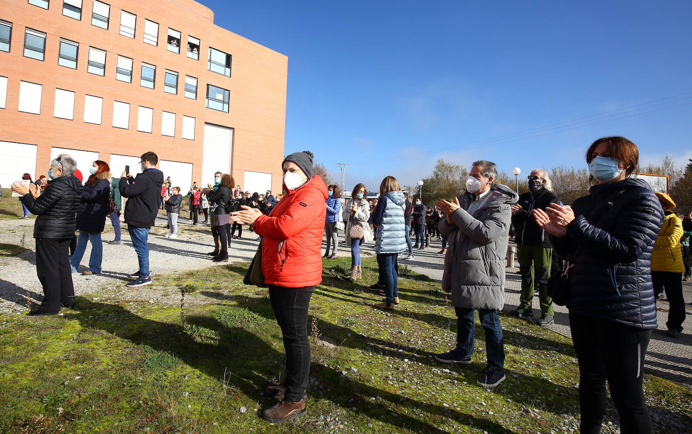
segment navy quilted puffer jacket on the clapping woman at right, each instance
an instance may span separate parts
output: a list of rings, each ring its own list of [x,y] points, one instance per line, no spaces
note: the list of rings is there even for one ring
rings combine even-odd
[[[570,269],[570,312],[656,328],[651,252],[663,210],[644,180],[594,185],[574,201],[567,236],[550,236]]]

